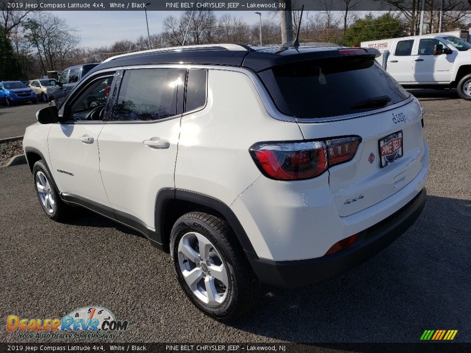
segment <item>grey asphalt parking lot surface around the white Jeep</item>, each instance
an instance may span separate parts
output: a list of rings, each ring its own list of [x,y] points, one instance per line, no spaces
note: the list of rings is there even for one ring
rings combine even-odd
[[[457,329],[456,342],[471,342],[471,102],[449,91],[413,93],[430,146],[416,223],[340,277],[302,290],[264,288],[253,312],[230,325],[200,313],[169,255],[138,233],[79,208],[68,224],[55,223],[27,166],[1,168],[0,341],[22,341],[5,330],[8,315],[56,318],[100,305],[129,321],[121,342],[418,342],[425,329]]]

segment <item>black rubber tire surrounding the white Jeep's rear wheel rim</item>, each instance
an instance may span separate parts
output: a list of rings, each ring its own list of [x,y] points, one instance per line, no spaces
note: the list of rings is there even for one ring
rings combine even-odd
[[[224,286],[227,294],[225,294],[226,297],[223,302],[218,305],[208,305],[200,300],[190,289],[183,277],[178,247],[182,237],[190,232],[197,232],[209,240],[211,246],[221,255],[222,263],[227,269],[229,285],[228,287]],[[225,220],[196,211],[183,215],[175,222],[172,228],[170,253],[175,274],[183,292],[198,309],[210,317],[219,321],[230,321],[250,310],[257,301],[260,284],[241,246],[237,242],[233,230]],[[188,264],[193,263],[189,260],[186,261]],[[201,264],[201,269],[203,269],[203,263]],[[210,274],[208,272],[207,275]]]

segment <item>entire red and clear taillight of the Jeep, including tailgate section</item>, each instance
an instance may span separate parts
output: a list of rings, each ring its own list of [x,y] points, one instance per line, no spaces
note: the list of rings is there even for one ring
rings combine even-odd
[[[361,142],[359,136],[328,140],[259,143],[250,149],[265,176],[278,180],[309,179],[329,166],[351,160]]]

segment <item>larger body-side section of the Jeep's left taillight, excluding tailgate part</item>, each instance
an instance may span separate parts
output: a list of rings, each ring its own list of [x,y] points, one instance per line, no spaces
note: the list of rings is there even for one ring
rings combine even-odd
[[[312,178],[327,168],[323,141],[260,144],[250,151],[264,174],[274,179]]]

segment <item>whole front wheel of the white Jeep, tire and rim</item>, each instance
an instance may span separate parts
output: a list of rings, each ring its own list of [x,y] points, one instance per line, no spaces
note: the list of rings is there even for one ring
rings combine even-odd
[[[34,163],[33,176],[34,188],[44,212],[56,222],[64,220],[69,211],[69,206],[59,198],[55,182],[43,160]]]

